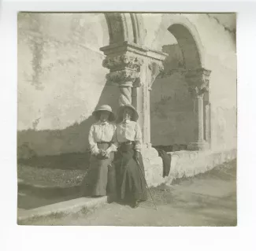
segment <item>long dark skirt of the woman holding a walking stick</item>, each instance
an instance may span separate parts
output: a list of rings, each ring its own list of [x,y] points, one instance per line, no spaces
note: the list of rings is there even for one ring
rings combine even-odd
[[[121,145],[115,157],[117,191],[121,201],[147,201],[143,159],[135,161],[134,145]]]

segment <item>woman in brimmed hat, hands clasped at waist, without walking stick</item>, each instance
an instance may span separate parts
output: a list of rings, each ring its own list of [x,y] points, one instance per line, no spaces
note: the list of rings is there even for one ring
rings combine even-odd
[[[102,105],[92,113],[97,123],[92,124],[89,131],[89,145],[91,149],[90,168],[85,179],[84,194],[93,197],[109,195],[115,199],[116,175],[112,164],[113,152],[117,147],[113,144],[116,125],[115,116],[109,105]]]

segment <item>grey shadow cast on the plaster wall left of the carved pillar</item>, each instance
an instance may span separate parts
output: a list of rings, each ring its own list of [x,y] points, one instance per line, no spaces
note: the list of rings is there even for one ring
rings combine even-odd
[[[108,104],[115,113],[118,93],[117,87],[105,86],[97,106]],[[88,132],[91,124],[95,122],[95,118],[89,116],[81,123],[74,123],[63,130],[18,131],[18,163],[39,168],[83,169],[90,156]]]

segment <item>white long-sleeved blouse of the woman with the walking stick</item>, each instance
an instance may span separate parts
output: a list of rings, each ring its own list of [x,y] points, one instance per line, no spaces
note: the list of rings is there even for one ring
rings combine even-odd
[[[139,124],[131,120],[117,124],[115,140],[117,142],[134,141],[135,150],[140,150],[142,147],[142,133]]]

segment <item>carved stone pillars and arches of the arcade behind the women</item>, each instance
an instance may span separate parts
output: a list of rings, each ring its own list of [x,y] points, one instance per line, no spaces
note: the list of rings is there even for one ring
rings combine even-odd
[[[162,161],[150,143],[150,90],[154,79],[163,70],[167,54],[143,46],[145,30],[139,13],[105,13],[109,28],[109,45],[100,48],[106,55],[103,67],[109,69],[106,85],[119,87],[119,105],[132,104],[139,113],[143,133],[143,161],[150,184],[163,182]],[[166,16],[167,17],[167,16]],[[203,98],[208,92],[210,71],[203,68],[204,53],[195,28],[186,20],[164,22],[183,48],[186,60],[184,76],[194,98],[195,138],[189,149],[205,149]],[[197,36],[197,37],[196,37]]]

